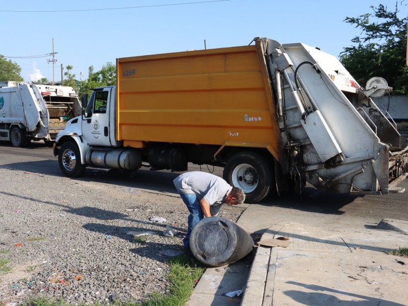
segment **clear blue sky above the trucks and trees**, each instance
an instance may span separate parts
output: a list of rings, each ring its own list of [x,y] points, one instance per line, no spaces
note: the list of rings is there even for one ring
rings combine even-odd
[[[52,53],[55,43],[56,81],[61,64],[88,75],[118,57],[188,49],[247,45],[254,37],[281,43],[303,42],[339,56],[360,35],[343,20],[372,12],[383,4],[394,10],[395,0],[70,0],[5,1],[0,7],[0,54],[28,57]],[[408,1],[398,0],[400,18]],[[138,7],[138,8],[129,8]],[[126,9],[113,9],[126,8]],[[80,11],[75,11],[80,10]],[[81,11],[84,10],[84,11]],[[88,10],[88,11],[85,11]],[[24,11],[24,12],[22,12]],[[38,12],[46,11],[46,12]],[[53,12],[50,12],[53,11]],[[60,11],[60,12],[58,12]],[[62,12],[65,11],[65,12]],[[53,80],[47,59],[11,58],[25,81]],[[65,71],[65,70],[64,70]]]

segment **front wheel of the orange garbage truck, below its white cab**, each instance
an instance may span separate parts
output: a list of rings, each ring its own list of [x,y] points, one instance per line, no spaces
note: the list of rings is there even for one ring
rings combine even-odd
[[[68,177],[78,177],[84,173],[85,165],[81,164],[80,150],[74,141],[62,144],[58,154],[58,164]]]

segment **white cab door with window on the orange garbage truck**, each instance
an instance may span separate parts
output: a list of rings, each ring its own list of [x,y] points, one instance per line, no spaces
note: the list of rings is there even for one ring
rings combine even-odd
[[[109,105],[111,88],[101,88],[92,92],[82,120],[82,133],[90,145],[110,146]]]

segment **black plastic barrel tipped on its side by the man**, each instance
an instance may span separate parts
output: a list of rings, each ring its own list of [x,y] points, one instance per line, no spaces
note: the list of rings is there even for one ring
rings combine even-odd
[[[252,251],[253,240],[234,222],[221,217],[209,217],[194,226],[190,248],[201,263],[219,267],[244,258]]]

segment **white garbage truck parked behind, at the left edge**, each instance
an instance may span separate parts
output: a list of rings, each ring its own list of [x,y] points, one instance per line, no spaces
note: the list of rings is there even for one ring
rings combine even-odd
[[[31,140],[52,145],[65,122],[81,115],[72,87],[0,82],[0,139],[22,147]]]

